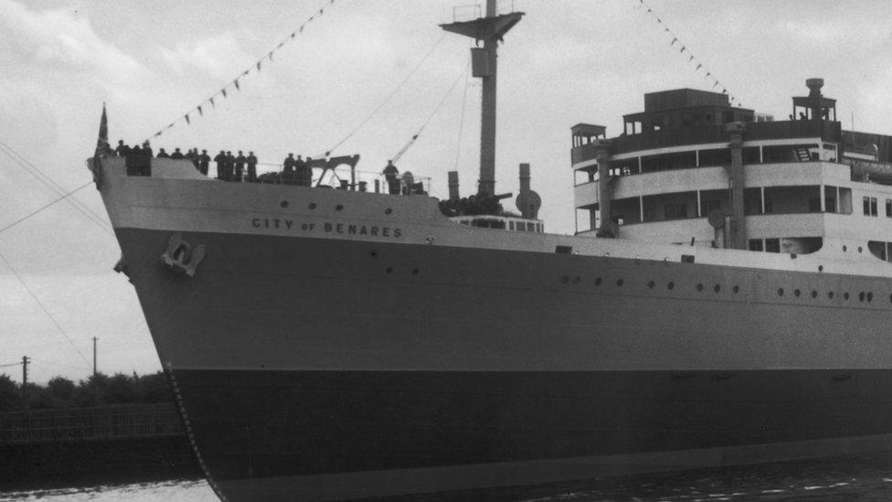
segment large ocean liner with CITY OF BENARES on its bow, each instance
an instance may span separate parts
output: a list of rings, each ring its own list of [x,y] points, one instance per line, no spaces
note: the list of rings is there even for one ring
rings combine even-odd
[[[400,179],[326,189],[88,160],[115,270],[218,497],[892,449],[892,137],[844,131],[820,79],[788,120],[725,93],[645,94],[620,135],[570,128],[577,228],[548,233],[529,166],[521,214],[494,190],[496,47],[523,13],[486,6],[442,26],[483,43],[473,197],[455,175],[441,201]]]

